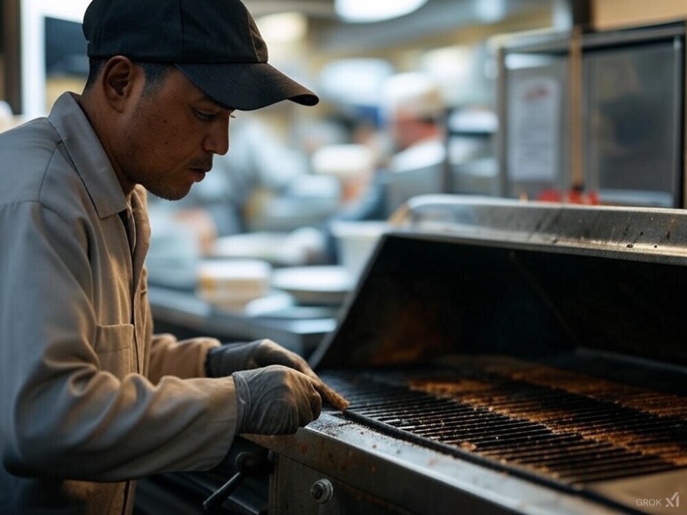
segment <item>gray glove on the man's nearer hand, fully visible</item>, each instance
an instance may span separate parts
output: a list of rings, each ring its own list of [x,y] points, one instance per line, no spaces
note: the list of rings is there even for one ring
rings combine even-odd
[[[322,382],[282,365],[232,374],[238,400],[238,431],[257,435],[295,433],[319,417]],[[319,381],[319,384],[316,384]]]

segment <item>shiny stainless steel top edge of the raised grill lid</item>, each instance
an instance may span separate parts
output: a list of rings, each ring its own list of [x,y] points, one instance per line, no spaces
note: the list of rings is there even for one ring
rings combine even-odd
[[[403,227],[428,235],[617,251],[666,260],[687,257],[683,209],[565,205],[503,198],[427,195],[412,198]],[[673,261],[673,260],[671,260]],[[678,260],[678,262],[683,262]]]

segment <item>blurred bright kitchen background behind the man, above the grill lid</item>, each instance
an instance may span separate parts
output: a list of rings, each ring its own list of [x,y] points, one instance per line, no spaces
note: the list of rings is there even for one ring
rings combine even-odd
[[[273,267],[343,265],[280,289],[348,291],[419,194],[684,207],[682,1],[246,3],[271,64],[322,102],[239,113],[216,170],[180,203],[151,202],[153,283],[243,311],[275,286]],[[87,1],[0,5],[6,129],[82,89]],[[403,117],[423,142],[412,154],[398,152]],[[227,268],[238,258],[258,263]],[[249,293],[218,290],[247,274]]]

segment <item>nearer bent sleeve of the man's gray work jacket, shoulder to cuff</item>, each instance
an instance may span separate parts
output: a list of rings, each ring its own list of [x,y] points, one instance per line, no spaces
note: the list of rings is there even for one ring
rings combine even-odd
[[[104,366],[131,355],[133,325],[98,319],[94,281],[108,278],[91,271],[89,231],[36,202],[0,206],[0,241],[12,249],[0,252],[5,468],[87,481],[211,468],[234,437],[233,380],[153,383]]]

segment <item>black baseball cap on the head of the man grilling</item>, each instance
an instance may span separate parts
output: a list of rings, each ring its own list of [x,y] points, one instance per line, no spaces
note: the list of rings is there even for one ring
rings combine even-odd
[[[175,65],[228,108],[319,102],[315,93],[267,63],[267,45],[240,0],[93,0],[83,31],[89,57]]]

